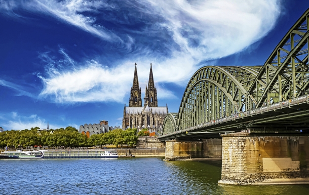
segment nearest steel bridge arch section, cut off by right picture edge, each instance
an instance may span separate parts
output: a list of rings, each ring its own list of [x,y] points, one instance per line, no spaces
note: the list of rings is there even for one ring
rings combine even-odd
[[[261,67],[248,90],[253,108],[304,95],[309,88],[309,9],[297,20]],[[264,85],[261,85],[264,84]]]

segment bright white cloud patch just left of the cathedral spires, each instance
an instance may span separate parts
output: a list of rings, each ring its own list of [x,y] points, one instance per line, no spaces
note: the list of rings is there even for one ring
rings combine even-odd
[[[56,102],[119,101],[124,97],[124,83],[129,82],[122,68],[103,67],[91,60],[84,66],[59,71],[51,66],[48,77],[38,75],[44,82],[41,97],[51,95]],[[131,78],[130,78],[131,79]]]

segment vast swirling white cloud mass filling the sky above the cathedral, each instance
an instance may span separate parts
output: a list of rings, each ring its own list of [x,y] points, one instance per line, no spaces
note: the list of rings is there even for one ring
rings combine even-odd
[[[92,58],[75,62],[63,49],[60,53],[66,63],[62,66],[50,58],[49,53],[42,54],[47,68],[45,73],[38,74],[44,85],[40,97],[52,97],[59,103],[122,102],[132,85],[134,62],[143,65],[138,66],[141,87],[149,75],[149,66],[145,65],[151,62],[155,82],[165,92],[160,94],[165,94],[164,98],[174,97],[171,90],[160,84],[184,86],[191,75],[205,65],[205,61],[243,51],[274,27],[281,8],[277,0],[147,0],[114,4],[124,4],[123,7],[134,12],[125,15],[123,7],[104,1],[22,2],[23,9],[54,16],[103,40],[119,41],[127,52],[122,54],[122,60],[113,60],[110,67]],[[6,9],[10,7],[17,9],[16,5],[6,6]],[[107,10],[117,10],[123,16],[106,16],[105,20],[130,24],[135,19],[138,23],[129,27],[121,25],[121,30],[115,28],[111,31],[96,17],[87,14]],[[142,27],[139,24],[143,24]],[[119,37],[126,37],[126,41]],[[110,58],[113,58],[112,54]]]

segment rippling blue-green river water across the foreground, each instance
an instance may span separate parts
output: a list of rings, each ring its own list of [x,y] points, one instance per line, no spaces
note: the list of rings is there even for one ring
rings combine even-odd
[[[309,185],[218,185],[221,162],[0,160],[0,194],[309,194]]]

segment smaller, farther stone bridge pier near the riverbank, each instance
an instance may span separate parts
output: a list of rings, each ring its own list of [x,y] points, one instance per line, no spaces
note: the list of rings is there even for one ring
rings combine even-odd
[[[221,160],[222,139],[165,141],[165,160]]]

